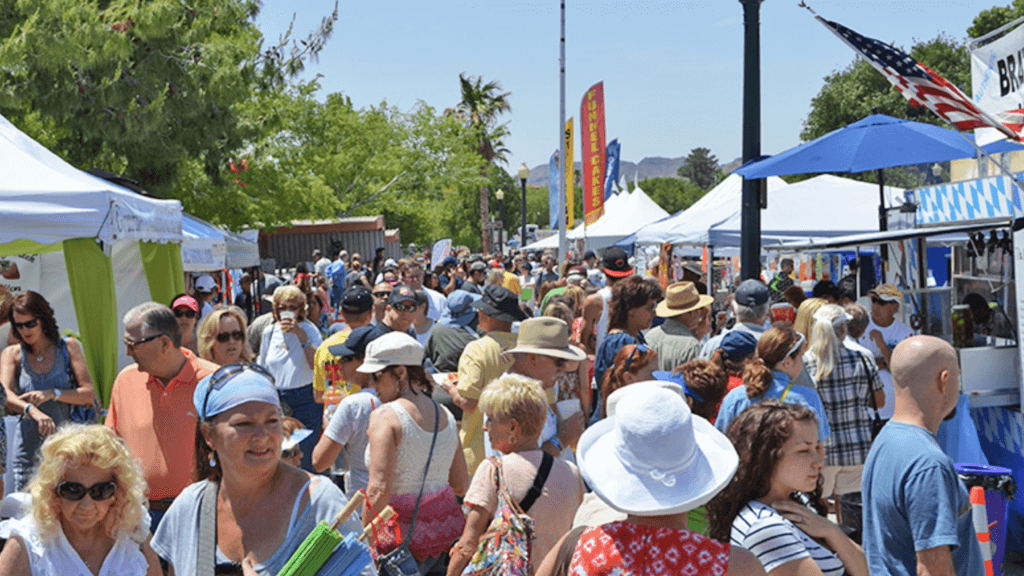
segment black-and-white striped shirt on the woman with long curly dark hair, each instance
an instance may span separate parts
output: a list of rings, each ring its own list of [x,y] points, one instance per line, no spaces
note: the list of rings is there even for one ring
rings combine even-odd
[[[792,522],[761,502],[752,500],[732,521],[732,545],[742,546],[758,557],[765,572],[810,558],[824,576],[842,576],[842,561],[827,548],[804,534]]]

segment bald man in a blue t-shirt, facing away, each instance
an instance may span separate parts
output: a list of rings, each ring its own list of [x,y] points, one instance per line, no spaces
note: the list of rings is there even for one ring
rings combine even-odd
[[[967,487],[935,433],[956,413],[959,363],[946,341],[911,336],[892,353],[893,418],[864,463],[870,574],[984,576]]]

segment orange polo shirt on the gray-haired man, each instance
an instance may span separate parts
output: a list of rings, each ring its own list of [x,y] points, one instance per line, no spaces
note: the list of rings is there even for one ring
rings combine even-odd
[[[148,498],[174,498],[191,484],[196,456],[196,384],[219,368],[181,348],[185,363],[165,388],[156,376],[132,364],[118,374],[111,390],[106,427],[128,443],[142,463]]]

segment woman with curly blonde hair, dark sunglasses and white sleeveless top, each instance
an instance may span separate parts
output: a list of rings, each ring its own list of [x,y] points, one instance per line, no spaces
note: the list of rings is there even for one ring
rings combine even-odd
[[[29,490],[32,515],[14,522],[0,574],[162,574],[145,477],[110,428],[70,424],[47,438]]]

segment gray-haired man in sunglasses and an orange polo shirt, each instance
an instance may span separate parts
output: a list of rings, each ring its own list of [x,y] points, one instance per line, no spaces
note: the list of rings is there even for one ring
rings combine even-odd
[[[197,423],[193,393],[218,366],[181,347],[174,313],[164,304],[145,302],[131,308],[124,325],[122,341],[135,364],[114,380],[104,424],[125,440],[142,464],[151,529],[156,531],[171,501],[191,483]]]

